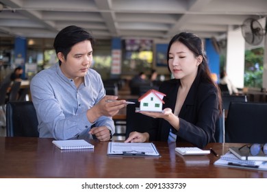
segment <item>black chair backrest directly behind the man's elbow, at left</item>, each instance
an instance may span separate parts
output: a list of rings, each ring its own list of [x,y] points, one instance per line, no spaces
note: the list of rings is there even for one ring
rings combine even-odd
[[[6,104],[7,136],[38,137],[38,119],[32,101],[9,101]]]

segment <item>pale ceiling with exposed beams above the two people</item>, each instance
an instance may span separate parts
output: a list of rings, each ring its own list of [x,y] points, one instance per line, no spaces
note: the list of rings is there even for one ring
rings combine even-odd
[[[218,38],[249,17],[267,16],[266,0],[0,1],[0,36],[27,38],[54,38],[68,25],[103,39],[168,39],[181,31]]]

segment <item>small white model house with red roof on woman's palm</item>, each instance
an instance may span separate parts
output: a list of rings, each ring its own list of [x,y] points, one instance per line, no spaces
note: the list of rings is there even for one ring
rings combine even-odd
[[[144,93],[144,95],[138,99],[140,102],[140,110],[162,112],[162,104],[164,104],[162,99],[164,96],[166,96],[164,93],[160,93],[154,89],[147,91],[147,93]]]

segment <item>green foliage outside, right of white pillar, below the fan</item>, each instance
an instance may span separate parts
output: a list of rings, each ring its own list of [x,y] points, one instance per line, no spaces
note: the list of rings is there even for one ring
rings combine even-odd
[[[244,86],[262,88],[264,48],[245,51]]]

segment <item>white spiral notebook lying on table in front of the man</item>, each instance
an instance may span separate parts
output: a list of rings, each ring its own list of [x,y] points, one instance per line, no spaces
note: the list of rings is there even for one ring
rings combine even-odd
[[[93,149],[94,145],[88,143],[83,139],[79,140],[64,140],[64,141],[52,141],[55,146],[62,150],[66,149]]]

